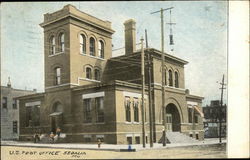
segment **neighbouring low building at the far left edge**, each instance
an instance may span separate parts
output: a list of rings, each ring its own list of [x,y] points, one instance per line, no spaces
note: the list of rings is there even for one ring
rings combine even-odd
[[[7,86],[1,86],[1,140],[19,138],[19,106],[15,97],[34,93],[12,88],[10,79]]]

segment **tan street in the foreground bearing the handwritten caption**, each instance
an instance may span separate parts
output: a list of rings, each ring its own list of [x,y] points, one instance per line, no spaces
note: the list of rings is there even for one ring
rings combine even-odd
[[[136,152],[90,149],[58,149],[25,146],[1,146],[2,160],[15,159],[165,159],[165,158],[226,158],[226,144],[210,144],[173,148],[157,148]]]

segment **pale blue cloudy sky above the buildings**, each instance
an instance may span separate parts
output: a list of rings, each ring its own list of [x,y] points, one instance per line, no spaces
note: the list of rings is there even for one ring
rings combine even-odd
[[[172,10],[174,46],[169,46],[169,11],[164,12],[165,51],[188,61],[185,88],[204,97],[203,106],[219,100],[222,75],[227,82],[226,1],[136,2],[4,2],[1,3],[1,85],[44,91],[43,15],[72,4],[81,11],[112,22],[113,49],[124,47],[124,25],[136,21],[136,40],[148,33],[150,47],[161,49],[161,8]],[[174,49],[174,51],[171,51]],[[116,56],[116,55],[113,55]],[[227,103],[227,90],[224,102]]]

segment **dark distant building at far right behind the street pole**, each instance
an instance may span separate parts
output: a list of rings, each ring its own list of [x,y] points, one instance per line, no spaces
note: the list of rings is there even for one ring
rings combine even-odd
[[[206,138],[218,138],[220,132],[221,118],[221,136],[226,137],[227,131],[227,105],[221,106],[219,100],[211,101],[210,105],[203,107],[204,128]]]

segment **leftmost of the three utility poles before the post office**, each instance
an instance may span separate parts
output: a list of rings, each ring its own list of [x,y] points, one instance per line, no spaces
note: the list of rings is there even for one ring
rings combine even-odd
[[[144,118],[144,88],[145,88],[145,76],[144,76],[144,48],[143,48],[143,37],[141,38],[141,79],[142,79],[142,103],[141,103],[141,113],[142,113],[142,145],[143,148],[146,147],[145,143],[145,118]]]

